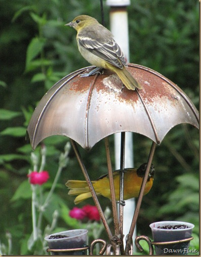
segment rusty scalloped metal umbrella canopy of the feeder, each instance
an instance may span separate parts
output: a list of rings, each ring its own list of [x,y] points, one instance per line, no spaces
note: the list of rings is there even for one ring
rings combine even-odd
[[[143,86],[128,90],[109,71],[80,77],[94,67],[75,71],[57,82],[42,98],[27,132],[32,148],[52,135],[67,136],[85,149],[117,132],[135,132],[160,144],[177,124],[198,128],[198,111],[187,95],[163,75],[130,64]]]

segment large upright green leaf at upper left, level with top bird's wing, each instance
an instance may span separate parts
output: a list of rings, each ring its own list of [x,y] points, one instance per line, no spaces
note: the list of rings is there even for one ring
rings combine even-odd
[[[26,52],[26,71],[30,71],[31,61],[43,50],[46,43],[46,39],[33,38],[28,45]]]

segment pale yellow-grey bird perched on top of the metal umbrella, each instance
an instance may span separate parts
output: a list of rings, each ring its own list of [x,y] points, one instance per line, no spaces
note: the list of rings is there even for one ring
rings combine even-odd
[[[140,83],[127,70],[123,51],[113,39],[111,32],[95,18],[79,15],[65,24],[77,31],[77,45],[82,56],[97,68],[82,76],[90,76],[100,68],[115,72],[124,85],[131,90],[141,89]]]

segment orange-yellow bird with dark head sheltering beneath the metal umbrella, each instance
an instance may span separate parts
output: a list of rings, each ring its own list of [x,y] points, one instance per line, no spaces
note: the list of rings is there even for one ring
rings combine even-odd
[[[138,169],[126,168],[124,170],[124,200],[139,196],[140,187],[146,171],[146,167],[147,164],[145,163],[142,164]],[[116,201],[119,200],[119,171],[120,170],[113,172]],[[153,185],[153,175],[154,166],[151,165],[148,180],[144,190],[144,195],[149,192]],[[97,196],[102,195],[106,198],[111,199],[108,174],[101,176],[98,180],[92,181],[92,184]],[[81,203],[82,201],[92,197],[87,181],[68,180],[66,182],[66,186],[70,189],[68,195],[78,195],[74,200],[75,204]]]

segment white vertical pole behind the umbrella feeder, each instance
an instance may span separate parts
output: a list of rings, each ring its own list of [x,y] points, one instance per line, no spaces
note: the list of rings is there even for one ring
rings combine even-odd
[[[122,48],[127,62],[129,62],[129,28],[128,28],[128,12],[127,6],[130,5],[130,0],[106,0],[106,4],[110,9],[110,31],[114,36],[115,41]],[[115,169],[120,167],[120,133],[114,134],[114,150],[115,150]],[[126,133],[125,145],[125,168],[134,167],[133,156],[133,135],[130,132]],[[126,235],[129,233],[131,221],[135,211],[135,200],[126,200],[124,208],[124,223],[123,233],[124,244],[126,242]],[[133,242],[135,242],[136,231],[133,235]],[[134,246],[135,247],[135,246]]]

